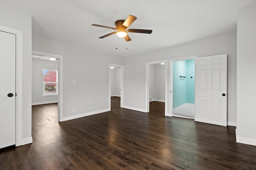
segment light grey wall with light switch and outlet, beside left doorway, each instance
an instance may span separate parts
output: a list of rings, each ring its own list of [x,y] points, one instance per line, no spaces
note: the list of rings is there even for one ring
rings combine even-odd
[[[33,51],[63,56],[63,120],[110,110],[109,64],[124,65],[122,57],[35,35],[32,41]]]

